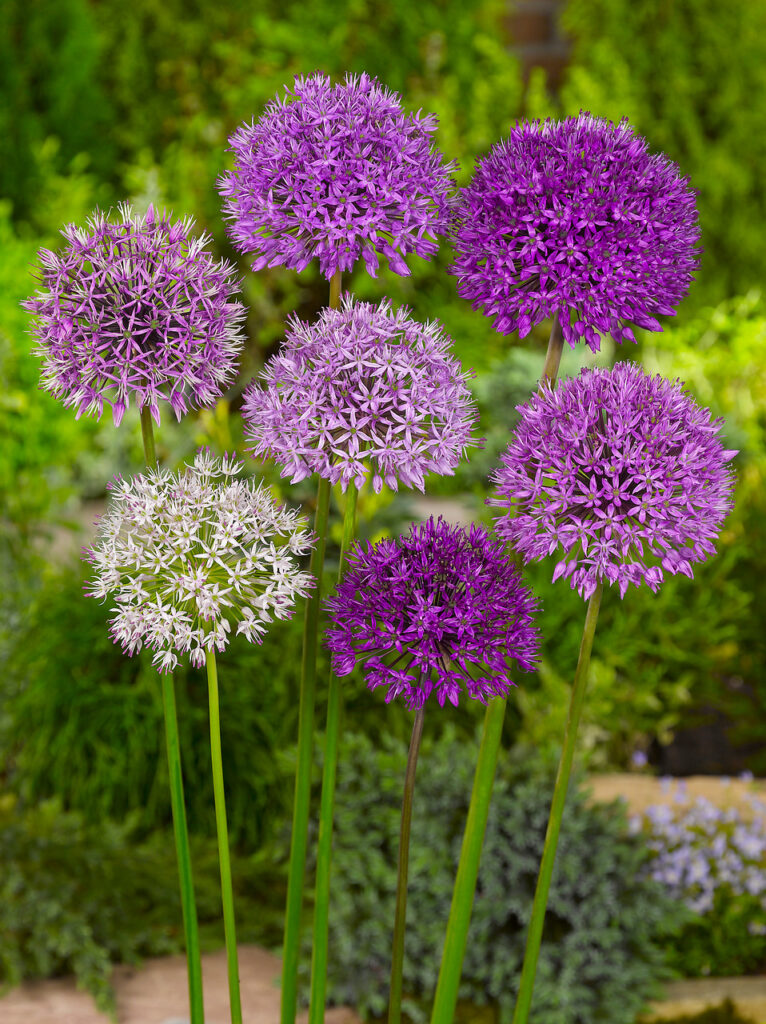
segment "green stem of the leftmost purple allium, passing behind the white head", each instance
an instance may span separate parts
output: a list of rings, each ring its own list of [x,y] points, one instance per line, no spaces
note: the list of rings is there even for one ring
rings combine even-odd
[[[146,465],[157,465],[155,432],[152,416],[144,406],[141,410],[141,434]],[[170,775],[170,805],[173,811],[173,833],[178,859],[178,877],[181,887],[181,911],[183,931],[186,938],[186,970],[188,973],[188,1004],[192,1024],[203,1024],[205,1009],[202,997],[202,959],[200,954],[200,933],[197,925],[197,903],[192,874],[192,853],[186,826],[186,809],[183,799],[183,775],[181,773],[181,748],[178,739],[178,716],[175,707],[175,688],[170,673],[162,676],[162,706],[165,713],[165,737],[168,748],[168,772]]]

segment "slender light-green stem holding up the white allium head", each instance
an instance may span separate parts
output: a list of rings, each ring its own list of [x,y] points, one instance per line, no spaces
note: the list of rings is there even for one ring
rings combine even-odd
[[[218,834],[218,861],[221,868],[221,902],[223,903],[223,934],[226,940],[228,999],[231,1010],[231,1024],[242,1024],[240,967],[237,961],[237,929],[235,926],[235,895],[231,888],[231,861],[228,853],[226,798],[223,792],[221,723],[218,708],[218,669],[215,664],[215,651],[212,648],[208,648],[205,652],[205,662],[208,669],[210,751],[213,761],[213,795],[215,798],[215,827]]]

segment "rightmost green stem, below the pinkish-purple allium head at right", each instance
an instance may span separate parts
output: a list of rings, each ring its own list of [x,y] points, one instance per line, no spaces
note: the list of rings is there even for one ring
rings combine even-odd
[[[583,711],[583,703],[585,702],[588,668],[591,663],[591,648],[593,647],[593,636],[596,632],[602,591],[603,584],[599,584],[588,602],[588,611],[585,616],[583,639],[580,644],[580,656],[578,657],[578,667],[574,671],[574,683],[571,687],[569,715],[566,719],[566,728],[564,730],[564,744],[561,752],[561,761],[558,766],[558,774],[556,775],[556,785],[553,791],[551,815],[548,819],[543,859],[540,862],[540,874],[538,876],[538,887],[535,890],[535,902],[531,909],[531,920],[529,921],[529,931],[526,935],[524,964],[521,969],[521,982],[516,999],[516,1010],[513,1015],[513,1024],[526,1024],[529,1017],[531,994],[535,987],[535,974],[540,954],[540,943],[543,938],[545,910],[548,903],[548,890],[551,887],[551,876],[553,874],[553,865],[556,859],[556,845],[561,828],[561,815],[563,814],[566,791],[569,785],[578,725]]]

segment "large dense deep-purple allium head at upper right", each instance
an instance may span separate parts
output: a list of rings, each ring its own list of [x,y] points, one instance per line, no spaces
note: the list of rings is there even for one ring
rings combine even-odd
[[[627,121],[517,124],[462,190],[452,272],[503,334],[558,314],[565,340],[662,331],[698,263],[695,194]]]

